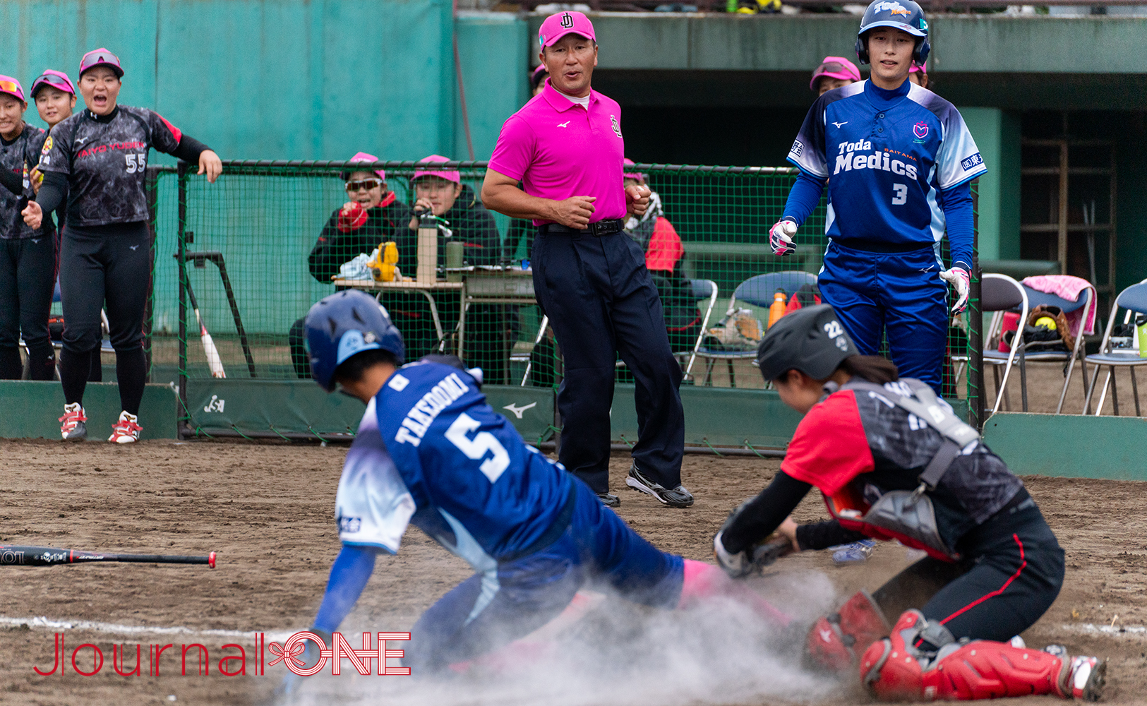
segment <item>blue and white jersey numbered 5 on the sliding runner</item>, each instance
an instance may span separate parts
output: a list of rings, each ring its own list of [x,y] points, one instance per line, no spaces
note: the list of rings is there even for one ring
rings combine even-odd
[[[370,401],[346,453],[335,499],[338,536],[397,552],[413,522],[489,571],[547,536],[571,482],[522,442],[465,371],[412,363]]]

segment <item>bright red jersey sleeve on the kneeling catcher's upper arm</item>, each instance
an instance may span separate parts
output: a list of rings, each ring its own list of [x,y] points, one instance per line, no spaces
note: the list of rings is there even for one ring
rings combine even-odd
[[[781,471],[825,495],[875,467],[852,390],[833,393],[809,410],[781,461]]]

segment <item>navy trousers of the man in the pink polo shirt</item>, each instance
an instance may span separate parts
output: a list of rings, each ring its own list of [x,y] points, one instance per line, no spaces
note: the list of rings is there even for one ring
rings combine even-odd
[[[618,231],[538,233],[533,289],[564,358],[557,390],[559,460],[595,492],[609,490],[609,410],[617,354],[637,383],[633,459],[665,488],[681,484],[681,366],[640,246]]]

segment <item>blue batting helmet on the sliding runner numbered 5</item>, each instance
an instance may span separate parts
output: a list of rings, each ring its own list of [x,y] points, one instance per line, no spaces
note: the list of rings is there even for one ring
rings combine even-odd
[[[403,334],[382,304],[357,289],[319,300],[306,313],[306,344],[311,377],[328,393],[335,389],[335,368],[364,350],[390,351],[403,364]]]

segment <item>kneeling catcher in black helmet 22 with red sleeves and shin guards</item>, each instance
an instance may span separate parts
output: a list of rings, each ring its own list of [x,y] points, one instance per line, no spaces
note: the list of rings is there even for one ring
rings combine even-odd
[[[1059,595],[1063,550],[973,427],[891,362],[857,355],[827,304],[778,321],[757,362],[805,417],[777,478],[713,538],[725,571],[752,572],[754,549],[774,530],[794,551],[873,537],[928,552],[818,621],[807,642],[816,662],[858,666],[884,700],[1100,697],[1103,661],[1013,638]],[[833,519],[797,526],[788,515],[813,487]]]

